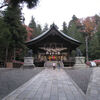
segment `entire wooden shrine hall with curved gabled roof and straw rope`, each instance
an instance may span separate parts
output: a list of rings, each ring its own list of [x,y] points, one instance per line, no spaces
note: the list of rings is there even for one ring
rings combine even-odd
[[[66,66],[73,65],[75,61],[71,52],[80,44],[78,40],[59,31],[54,24],[46,32],[26,42],[33,51],[36,66],[43,66],[46,61],[62,61]]]

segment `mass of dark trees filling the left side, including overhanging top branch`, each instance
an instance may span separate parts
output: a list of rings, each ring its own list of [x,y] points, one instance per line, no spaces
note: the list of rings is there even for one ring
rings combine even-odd
[[[22,59],[26,50],[26,29],[22,25],[22,5],[28,8],[37,5],[38,0],[6,0],[2,7],[8,6],[4,11],[4,18],[0,18],[0,60],[7,61],[12,58]],[[21,5],[22,4],[22,5]],[[20,6],[19,6],[20,5]]]

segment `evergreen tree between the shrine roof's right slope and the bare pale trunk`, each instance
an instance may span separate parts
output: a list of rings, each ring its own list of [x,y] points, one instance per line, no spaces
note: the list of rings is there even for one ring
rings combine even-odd
[[[75,15],[73,15],[72,20],[68,25],[67,34],[82,43],[79,49],[81,50],[83,56],[85,56],[85,37],[84,34],[80,32],[80,28],[81,27],[79,25],[79,19]]]

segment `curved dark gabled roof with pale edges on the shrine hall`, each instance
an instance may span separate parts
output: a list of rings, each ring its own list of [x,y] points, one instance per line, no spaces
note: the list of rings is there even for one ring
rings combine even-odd
[[[40,34],[39,36],[33,38],[30,41],[27,41],[26,42],[26,45],[32,45],[32,44],[35,44],[37,42],[40,42],[41,43],[41,40],[43,40],[44,38],[47,38],[47,36],[49,36],[49,35],[55,34],[55,32],[57,33],[57,35],[59,35],[61,38],[63,38],[66,42],[70,42],[72,45],[76,45],[76,47],[78,47],[81,44],[78,40],[76,40],[76,39],[68,36],[67,34],[59,31],[56,28],[56,26],[53,24],[51,26],[51,28],[48,29],[46,32]]]

